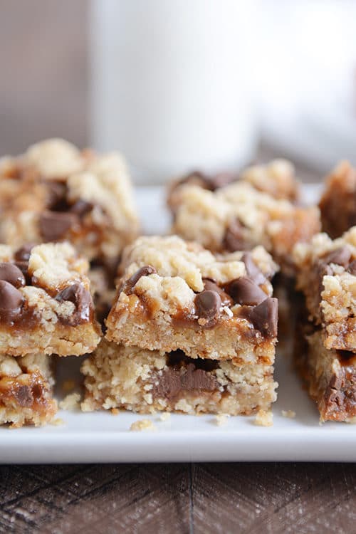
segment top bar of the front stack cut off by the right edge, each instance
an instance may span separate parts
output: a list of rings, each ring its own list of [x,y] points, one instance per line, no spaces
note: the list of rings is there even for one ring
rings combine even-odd
[[[294,250],[297,287],[325,348],[356,352],[356,226],[342,237],[318,234]]]

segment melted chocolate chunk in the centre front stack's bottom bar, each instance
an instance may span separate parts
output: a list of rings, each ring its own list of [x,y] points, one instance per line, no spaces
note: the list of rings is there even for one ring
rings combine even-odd
[[[158,377],[153,389],[154,397],[174,399],[180,392],[208,391],[218,389],[219,382],[209,372],[197,369],[194,363],[186,367],[168,367]]]

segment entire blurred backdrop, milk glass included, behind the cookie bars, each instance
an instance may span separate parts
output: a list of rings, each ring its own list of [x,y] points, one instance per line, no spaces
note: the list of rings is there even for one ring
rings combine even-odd
[[[352,0],[0,0],[0,152],[122,150],[137,182],[356,164]]]

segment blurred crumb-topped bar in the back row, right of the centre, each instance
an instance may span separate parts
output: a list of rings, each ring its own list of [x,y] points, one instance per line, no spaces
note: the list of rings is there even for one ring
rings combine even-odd
[[[169,196],[172,233],[219,253],[262,245],[284,273],[293,274],[293,246],[320,231],[319,210],[295,205],[293,186],[284,190],[278,174],[268,176],[268,167],[252,167],[239,181],[217,188],[197,182],[196,174],[194,182],[186,179]]]

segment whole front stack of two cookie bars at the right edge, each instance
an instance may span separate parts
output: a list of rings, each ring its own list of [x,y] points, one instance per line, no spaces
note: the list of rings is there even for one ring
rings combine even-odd
[[[356,227],[342,237],[318,234],[294,251],[297,284],[305,296],[303,343],[295,359],[320,419],[356,417]],[[308,320],[305,320],[305,315]]]

